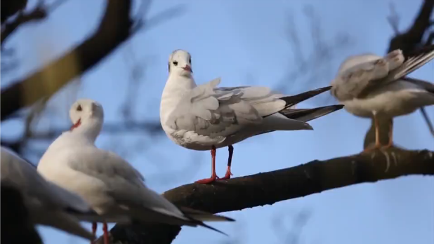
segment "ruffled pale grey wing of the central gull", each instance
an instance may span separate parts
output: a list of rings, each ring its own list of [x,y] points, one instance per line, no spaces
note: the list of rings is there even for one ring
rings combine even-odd
[[[282,95],[270,88],[239,86],[216,88],[220,79],[204,83],[183,97],[169,116],[169,127],[198,135],[232,135],[244,126],[261,123],[263,116],[284,108]]]

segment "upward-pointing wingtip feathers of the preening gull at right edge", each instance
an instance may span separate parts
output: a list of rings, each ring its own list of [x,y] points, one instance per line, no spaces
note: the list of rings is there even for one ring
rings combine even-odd
[[[407,58],[402,63],[402,65],[393,70],[391,72],[392,74],[389,76],[390,81],[395,81],[397,79],[401,79],[402,77],[406,76],[407,74],[410,74],[414,72],[416,69],[419,69],[423,65],[425,65],[427,62],[430,62],[430,60],[434,59],[434,45],[426,46],[424,48],[421,48],[420,50],[416,50],[414,53],[410,53],[409,55],[406,55]]]

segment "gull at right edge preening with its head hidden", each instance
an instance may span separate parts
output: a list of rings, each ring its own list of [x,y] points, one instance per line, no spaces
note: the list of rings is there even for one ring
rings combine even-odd
[[[389,142],[381,145],[379,118],[393,118],[410,114],[416,109],[434,104],[434,85],[413,79],[407,74],[419,69],[434,58],[434,45],[404,55],[397,49],[381,57],[367,53],[348,57],[331,81],[331,95],[345,105],[345,109],[364,118],[373,118],[375,145],[364,149],[386,149],[393,146],[393,128],[390,124]],[[430,121],[421,110],[428,126]],[[392,120],[390,119],[390,123]],[[431,128],[431,126],[430,126]]]

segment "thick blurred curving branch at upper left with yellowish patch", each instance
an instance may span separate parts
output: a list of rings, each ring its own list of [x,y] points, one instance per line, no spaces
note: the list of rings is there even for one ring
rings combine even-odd
[[[55,93],[126,41],[131,34],[130,8],[131,1],[107,0],[100,26],[86,41],[26,79],[1,90],[0,121]]]

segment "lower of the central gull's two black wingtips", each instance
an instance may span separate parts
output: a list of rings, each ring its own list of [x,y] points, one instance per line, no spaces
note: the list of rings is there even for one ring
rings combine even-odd
[[[285,109],[280,111],[287,118],[296,119],[297,121],[308,122],[315,118],[320,118],[324,115],[333,113],[343,108],[343,105],[331,105],[325,107],[317,107],[315,109]]]

